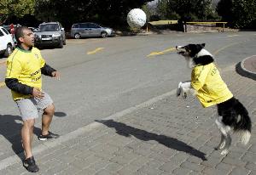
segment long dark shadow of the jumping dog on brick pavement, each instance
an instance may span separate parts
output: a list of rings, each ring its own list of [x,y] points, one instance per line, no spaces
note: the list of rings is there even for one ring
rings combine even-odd
[[[159,135],[156,133],[149,133],[142,129],[137,129],[126,125],[125,123],[113,121],[113,120],[100,120],[100,122],[107,127],[113,127],[116,130],[116,133],[125,137],[131,137],[133,135],[135,138],[138,138],[143,141],[155,140],[160,144],[165,145],[168,148],[183,151],[189,155],[194,155],[201,158],[203,161],[207,161],[206,154],[200,150],[195,150],[195,148],[189,146],[188,144],[183,143],[182,141],[177,140],[176,138],[170,138],[165,135]]]

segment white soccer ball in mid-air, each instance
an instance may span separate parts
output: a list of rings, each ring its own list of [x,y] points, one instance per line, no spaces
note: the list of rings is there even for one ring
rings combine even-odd
[[[146,14],[140,8],[131,9],[127,14],[127,23],[132,29],[140,29],[146,23]]]

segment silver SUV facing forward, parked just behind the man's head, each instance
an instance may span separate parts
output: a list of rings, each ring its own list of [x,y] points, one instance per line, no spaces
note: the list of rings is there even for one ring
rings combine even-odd
[[[55,46],[63,48],[66,45],[65,31],[59,22],[44,22],[38,26],[35,33],[35,46]]]

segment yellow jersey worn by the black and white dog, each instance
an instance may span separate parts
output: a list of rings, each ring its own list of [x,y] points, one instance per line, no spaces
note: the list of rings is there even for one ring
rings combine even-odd
[[[213,63],[195,66],[191,74],[191,86],[195,88],[203,107],[220,104],[233,97]]]

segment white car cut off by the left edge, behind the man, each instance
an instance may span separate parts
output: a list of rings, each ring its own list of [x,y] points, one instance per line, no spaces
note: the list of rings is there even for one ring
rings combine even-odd
[[[3,26],[0,26],[0,54],[8,57],[15,48],[12,35]]]

